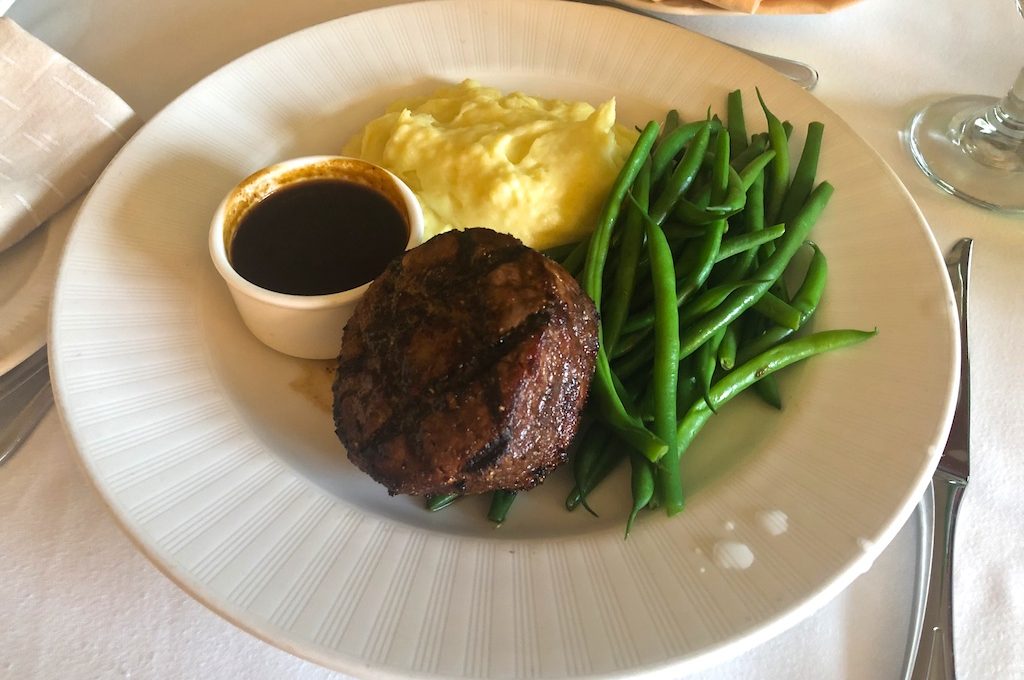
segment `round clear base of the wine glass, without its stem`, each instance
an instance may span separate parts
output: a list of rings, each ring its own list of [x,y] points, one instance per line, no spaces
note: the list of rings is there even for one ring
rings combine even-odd
[[[913,117],[907,140],[913,160],[946,192],[983,208],[1024,214],[1024,171],[979,162],[962,140],[964,130],[998,101],[985,96],[937,101]]]

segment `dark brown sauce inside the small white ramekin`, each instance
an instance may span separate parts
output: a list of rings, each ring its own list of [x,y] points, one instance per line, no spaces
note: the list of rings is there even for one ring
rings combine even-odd
[[[269,195],[243,216],[231,266],[261,288],[327,295],[357,288],[406,250],[409,227],[372,188],[314,179]]]

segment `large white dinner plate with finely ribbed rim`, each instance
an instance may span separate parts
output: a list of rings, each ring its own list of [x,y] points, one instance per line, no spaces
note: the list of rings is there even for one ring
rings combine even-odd
[[[253,170],[336,152],[396,97],[472,77],[617,98],[627,124],[722,111],[754,88],[825,123],[837,187],[814,239],[816,328],[878,327],[794,367],[785,410],[737,399],[687,454],[686,511],[623,540],[628,484],[561,507],[568,472],[500,529],[470,499],[436,514],[345,459],[330,365],[245,330],[206,250]],[[850,127],[757,61],[621,10],[453,0],[355,14],[224,67],[154,118],[90,193],[52,313],[57,402],[88,474],[139,548],[228,620],[355,676],[622,677],[717,663],[866,569],[909,515],[947,432],[958,360],[936,245]],[[730,562],[727,558],[738,556]],[[749,564],[748,564],[749,562]],[[745,568],[735,568],[745,566]]]

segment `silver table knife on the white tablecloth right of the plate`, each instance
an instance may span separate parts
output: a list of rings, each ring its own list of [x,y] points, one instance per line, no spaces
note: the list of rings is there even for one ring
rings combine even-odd
[[[916,654],[907,669],[910,671],[908,677],[912,680],[952,680],[956,677],[953,655],[953,536],[961,500],[971,476],[971,362],[967,316],[973,245],[971,239],[962,239],[946,256],[946,269],[959,312],[959,394],[956,397],[949,437],[929,490],[929,494],[934,494],[931,577],[920,638],[916,641]],[[924,524],[927,525],[928,503],[923,503],[922,508]],[[925,541],[927,543],[927,537]]]

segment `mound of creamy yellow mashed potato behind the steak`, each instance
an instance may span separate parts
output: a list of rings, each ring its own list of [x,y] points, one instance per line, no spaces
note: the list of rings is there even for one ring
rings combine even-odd
[[[636,138],[615,124],[614,99],[595,109],[467,80],[393,103],[344,153],[409,184],[426,238],[488,226],[544,249],[592,230]]]

